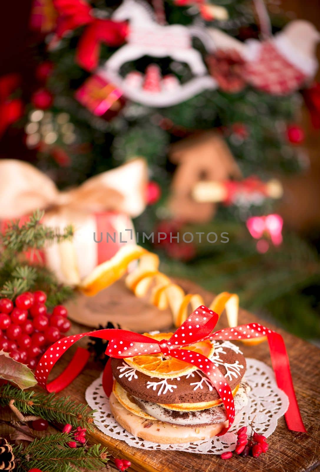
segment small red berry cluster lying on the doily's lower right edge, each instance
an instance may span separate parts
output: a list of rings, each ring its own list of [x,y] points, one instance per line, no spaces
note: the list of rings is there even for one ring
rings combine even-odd
[[[259,457],[261,453],[267,452],[269,449],[269,444],[267,443],[267,439],[262,434],[258,434],[254,431],[252,424],[251,426],[251,434],[248,438],[246,434],[247,427],[243,426],[237,432],[238,441],[235,448],[235,452],[242,457],[247,457],[248,455],[252,455],[252,457]],[[230,459],[232,457],[232,452],[224,452],[221,455],[222,459]]]

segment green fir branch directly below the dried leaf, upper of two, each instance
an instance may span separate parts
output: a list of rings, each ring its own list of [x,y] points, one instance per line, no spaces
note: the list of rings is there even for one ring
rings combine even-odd
[[[54,393],[25,392],[7,384],[0,388],[0,406],[8,406],[10,400],[15,400],[15,406],[21,413],[41,416],[54,424],[70,423],[74,427],[92,430],[94,412],[88,411],[87,405],[75,403],[70,396],[57,398]]]

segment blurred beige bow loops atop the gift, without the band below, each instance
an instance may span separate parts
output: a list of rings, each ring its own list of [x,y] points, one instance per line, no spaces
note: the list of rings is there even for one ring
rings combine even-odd
[[[137,158],[60,192],[50,177],[21,160],[0,160],[0,218],[19,218],[37,208],[119,211],[138,216],[146,206],[147,164]]]

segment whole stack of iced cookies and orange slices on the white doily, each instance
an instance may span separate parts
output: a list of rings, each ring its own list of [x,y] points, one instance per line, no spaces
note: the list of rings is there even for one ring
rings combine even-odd
[[[161,340],[172,333],[146,336]],[[205,340],[188,349],[195,357],[204,354],[219,368],[221,391],[230,385],[237,421],[249,391],[242,380],[246,360],[238,346]],[[228,426],[222,399],[196,367],[163,354],[112,359],[111,366],[115,378],[111,411],[134,436],[160,444],[188,443],[212,438]]]

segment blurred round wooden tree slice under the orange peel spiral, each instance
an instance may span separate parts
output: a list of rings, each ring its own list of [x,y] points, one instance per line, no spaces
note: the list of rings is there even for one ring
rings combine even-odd
[[[92,328],[106,326],[108,321],[140,333],[165,331],[172,326],[170,310],[159,310],[149,303],[149,297],[137,298],[123,280],[93,297],[79,294],[65,305],[71,320]]]

